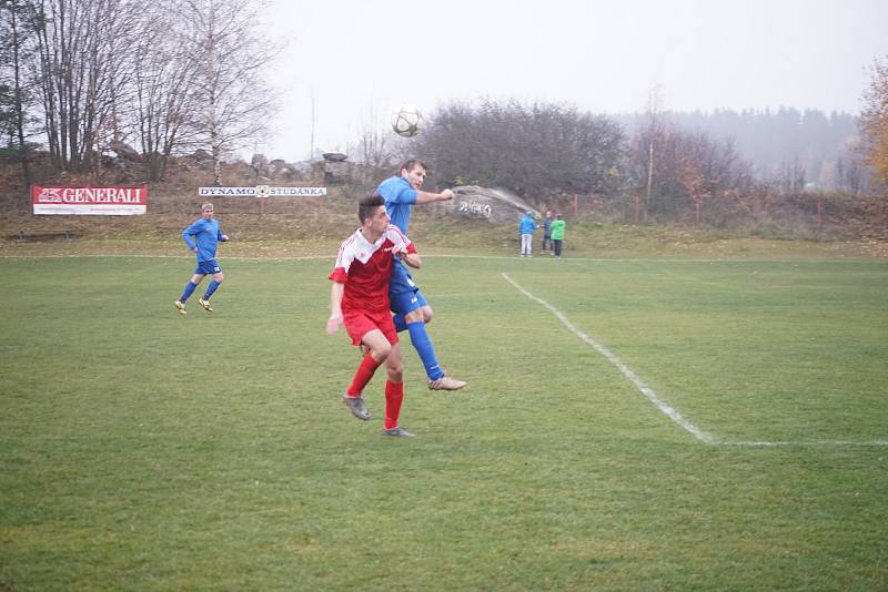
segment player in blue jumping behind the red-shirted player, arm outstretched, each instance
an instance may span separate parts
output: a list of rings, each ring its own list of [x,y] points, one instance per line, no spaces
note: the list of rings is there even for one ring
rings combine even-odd
[[[386,178],[376,187],[376,193],[385,198],[385,210],[392,218],[392,224],[401,228],[404,234],[407,234],[410,214],[414,205],[453,200],[451,190],[441,193],[422,191],[425,174],[424,163],[410,160],[401,165],[400,174]],[[406,329],[410,333],[410,341],[425,367],[428,388],[432,390],[463,388],[466,385],[464,380],[451,378],[441,369],[435,348],[425,330],[425,324],[432,320],[432,307],[413,282],[406,266],[398,261],[395,261],[392,269],[389,298],[392,300],[395,328],[398,331]]]

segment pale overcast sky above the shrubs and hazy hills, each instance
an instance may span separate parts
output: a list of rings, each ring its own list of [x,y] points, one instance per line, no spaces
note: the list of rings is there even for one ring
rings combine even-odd
[[[285,43],[270,159],[347,150],[398,104],[480,99],[644,111],[858,113],[888,0],[272,0]],[[314,116],[312,116],[314,104]]]

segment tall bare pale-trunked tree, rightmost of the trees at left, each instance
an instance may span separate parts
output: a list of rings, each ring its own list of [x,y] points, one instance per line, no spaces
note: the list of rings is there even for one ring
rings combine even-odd
[[[262,79],[276,48],[265,42],[258,14],[266,2],[184,0],[179,18],[183,47],[195,60],[192,124],[210,146],[213,183],[221,184],[222,156],[266,133],[275,96]]]

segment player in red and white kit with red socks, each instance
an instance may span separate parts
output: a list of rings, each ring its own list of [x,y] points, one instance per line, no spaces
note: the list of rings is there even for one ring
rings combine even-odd
[[[381,195],[362,198],[357,206],[357,218],[361,227],[342,243],[336,265],[330,274],[333,288],[330,293],[326,333],[333,335],[344,324],[352,344],[363,344],[370,348],[370,353],[361,360],[342,400],[357,419],[370,419],[362,395],[376,368],[384,361],[389,379],[385,382],[383,433],[408,437],[413,435],[397,425],[404,399],[404,366],[390,313],[389,283],[395,257],[415,268],[422,265],[422,261],[413,243],[397,226],[391,224],[385,200]]]

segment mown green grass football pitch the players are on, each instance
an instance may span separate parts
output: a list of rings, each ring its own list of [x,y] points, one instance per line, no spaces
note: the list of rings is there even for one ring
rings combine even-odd
[[[0,590],[888,588],[884,261],[426,257],[410,440],[331,263],[0,259]]]

